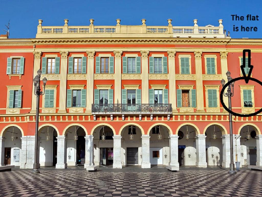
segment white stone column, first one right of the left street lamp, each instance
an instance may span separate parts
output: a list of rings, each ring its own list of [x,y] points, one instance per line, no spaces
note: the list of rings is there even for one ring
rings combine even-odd
[[[65,136],[57,136],[57,164],[56,168],[67,168]]]

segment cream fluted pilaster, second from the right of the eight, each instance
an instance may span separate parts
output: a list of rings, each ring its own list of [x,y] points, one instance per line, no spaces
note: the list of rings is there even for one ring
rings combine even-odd
[[[202,79],[202,51],[194,51],[196,68],[196,112],[205,112]]]

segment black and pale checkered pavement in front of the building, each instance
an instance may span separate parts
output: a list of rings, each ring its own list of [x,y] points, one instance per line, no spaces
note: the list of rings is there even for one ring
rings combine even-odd
[[[262,196],[262,172],[185,169],[0,172],[0,196]]]

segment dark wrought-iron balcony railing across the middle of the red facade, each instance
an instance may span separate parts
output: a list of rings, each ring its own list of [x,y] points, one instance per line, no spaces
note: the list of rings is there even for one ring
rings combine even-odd
[[[171,114],[171,104],[92,104],[93,114]]]

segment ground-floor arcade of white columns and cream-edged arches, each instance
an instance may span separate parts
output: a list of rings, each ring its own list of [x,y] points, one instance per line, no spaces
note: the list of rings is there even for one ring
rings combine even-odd
[[[151,123],[151,122],[150,122]],[[145,129],[139,122],[129,122],[119,131],[113,123],[63,123],[63,131],[51,123],[39,127],[39,165],[67,166],[112,165],[122,168],[138,165],[229,167],[230,135],[225,122],[153,122]],[[205,124],[203,126],[203,124]],[[234,162],[262,166],[260,125],[242,123],[234,127]],[[201,129],[202,128],[202,129]],[[25,135],[19,124],[6,125],[0,136],[1,165],[32,168],[35,136]]]

